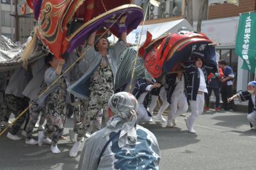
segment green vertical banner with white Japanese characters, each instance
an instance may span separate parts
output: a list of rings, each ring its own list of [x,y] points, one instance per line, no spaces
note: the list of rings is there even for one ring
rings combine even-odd
[[[236,54],[244,61],[242,68],[254,73],[256,66],[256,12],[240,15],[236,36]]]

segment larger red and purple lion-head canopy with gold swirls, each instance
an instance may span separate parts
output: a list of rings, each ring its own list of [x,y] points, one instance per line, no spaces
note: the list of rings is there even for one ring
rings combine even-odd
[[[129,34],[136,29],[143,19],[143,10],[130,0],[111,3],[108,0],[27,0],[27,3],[38,20],[38,37],[57,58],[68,56],[93,31],[108,28],[116,20],[110,31],[120,37],[122,32]],[[81,20],[83,25],[68,35],[72,20]]]

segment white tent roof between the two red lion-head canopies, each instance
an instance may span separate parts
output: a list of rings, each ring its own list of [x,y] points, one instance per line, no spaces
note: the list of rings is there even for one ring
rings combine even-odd
[[[142,26],[138,26],[137,29],[134,29],[131,33],[129,33],[129,35],[127,36],[128,43],[138,44],[140,40],[141,27]],[[165,33],[177,33],[180,27],[186,27],[191,31],[194,30],[186,19],[163,22],[159,24],[144,25],[140,44],[145,42],[147,31],[149,31],[153,35],[152,38],[155,39],[159,36],[164,35]]]

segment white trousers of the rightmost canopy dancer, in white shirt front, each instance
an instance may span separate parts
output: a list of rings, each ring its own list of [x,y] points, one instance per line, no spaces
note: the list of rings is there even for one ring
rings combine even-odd
[[[190,124],[189,130],[193,129],[193,123],[199,114],[204,112],[204,93],[197,94],[196,100],[189,100],[190,107],[191,107],[191,114],[188,117],[188,121]]]

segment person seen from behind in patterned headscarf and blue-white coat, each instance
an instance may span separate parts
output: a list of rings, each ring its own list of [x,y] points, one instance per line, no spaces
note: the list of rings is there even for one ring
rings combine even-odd
[[[157,139],[136,125],[138,102],[127,92],[113,95],[108,102],[109,121],[105,128],[86,140],[78,169],[159,169]]]

